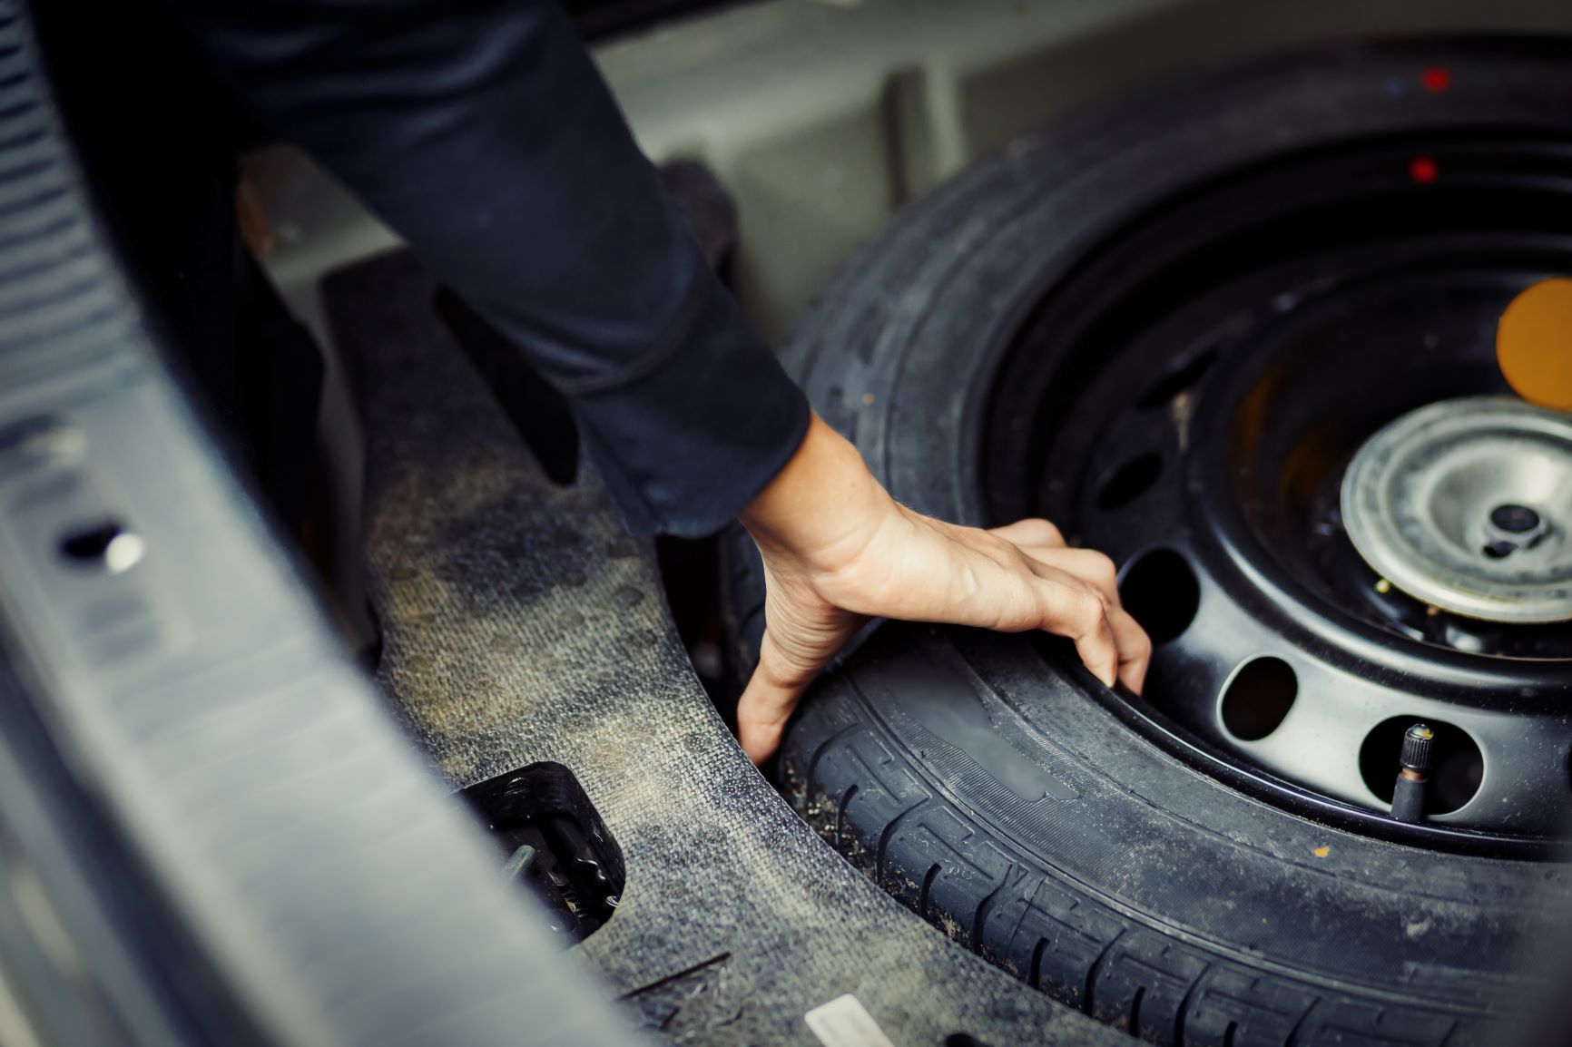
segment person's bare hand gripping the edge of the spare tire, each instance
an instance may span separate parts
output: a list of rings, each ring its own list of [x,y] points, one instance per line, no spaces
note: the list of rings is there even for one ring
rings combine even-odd
[[[1069,637],[1086,668],[1140,693],[1152,645],[1119,605],[1113,561],[1047,520],[989,531],[913,512],[814,415],[786,468],[742,512],[764,558],[764,641],[737,704],[753,762],[802,692],[869,618]]]

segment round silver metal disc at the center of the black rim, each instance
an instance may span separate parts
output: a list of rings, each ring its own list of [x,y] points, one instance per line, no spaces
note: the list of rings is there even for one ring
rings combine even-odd
[[[1572,417],[1500,396],[1429,404],[1364,442],[1341,503],[1353,547],[1415,599],[1572,619]]]

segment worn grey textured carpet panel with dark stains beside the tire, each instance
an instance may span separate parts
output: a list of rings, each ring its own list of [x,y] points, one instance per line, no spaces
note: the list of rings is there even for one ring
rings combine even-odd
[[[899,1047],[1130,1042],[965,953],[803,825],[693,676],[649,546],[588,467],[545,478],[434,291],[409,255],[327,285],[365,366],[379,676],[456,788],[541,759],[577,773],[627,860],[618,913],[575,950],[610,994],[684,1044],[817,1044],[803,1014],[841,994]]]

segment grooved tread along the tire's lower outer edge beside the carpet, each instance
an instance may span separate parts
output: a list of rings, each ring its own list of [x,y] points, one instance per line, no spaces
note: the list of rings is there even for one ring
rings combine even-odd
[[[1453,1047],[1484,1031],[1250,970],[1113,910],[951,803],[844,692],[805,709],[786,745],[788,795],[865,876],[964,948],[1143,1041]]]

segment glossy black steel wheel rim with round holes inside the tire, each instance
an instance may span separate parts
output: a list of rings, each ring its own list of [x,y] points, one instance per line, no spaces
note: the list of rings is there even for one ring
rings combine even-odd
[[[1396,418],[1504,395],[1500,311],[1572,272],[1572,149],[1426,135],[1185,192],[1027,322],[984,439],[989,511],[1044,514],[1121,566],[1157,641],[1140,729],[1364,828],[1515,846],[1572,799],[1566,624],[1478,621],[1383,582],[1349,539],[1347,464]],[[1429,821],[1383,810],[1437,726]],[[1390,764],[1390,770],[1388,770]]]

